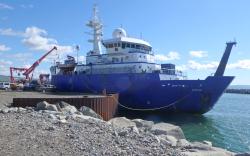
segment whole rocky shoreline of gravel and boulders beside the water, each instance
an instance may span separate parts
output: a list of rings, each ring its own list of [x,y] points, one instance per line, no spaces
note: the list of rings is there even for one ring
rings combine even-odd
[[[41,102],[0,110],[1,155],[239,155],[209,141],[189,142],[180,127],[113,118],[87,107]]]

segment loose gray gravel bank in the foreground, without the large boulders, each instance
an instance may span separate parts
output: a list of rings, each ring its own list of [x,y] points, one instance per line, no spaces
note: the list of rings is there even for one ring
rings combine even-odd
[[[1,155],[181,155],[154,135],[120,136],[109,124],[68,119],[61,123],[36,111],[0,113]]]

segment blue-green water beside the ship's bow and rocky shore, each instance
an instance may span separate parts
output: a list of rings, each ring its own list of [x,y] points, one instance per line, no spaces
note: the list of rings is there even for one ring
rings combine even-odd
[[[179,125],[190,141],[208,140],[230,151],[250,151],[250,95],[224,94],[202,116],[140,114],[140,118]]]

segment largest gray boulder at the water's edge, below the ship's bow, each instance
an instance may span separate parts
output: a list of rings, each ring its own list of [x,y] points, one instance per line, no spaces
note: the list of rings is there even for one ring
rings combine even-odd
[[[179,126],[168,123],[155,124],[150,131],[155,135],[171,135],[176,139],[185,139],[184,133]]]

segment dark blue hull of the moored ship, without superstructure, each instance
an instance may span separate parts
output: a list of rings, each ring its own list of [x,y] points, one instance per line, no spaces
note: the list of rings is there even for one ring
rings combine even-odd
[[[205,80],[160,80],[158,73],[53,75],[59,91],[119,93],[120,106],[138,111],[203,114],[211,110],[232,76]]]

